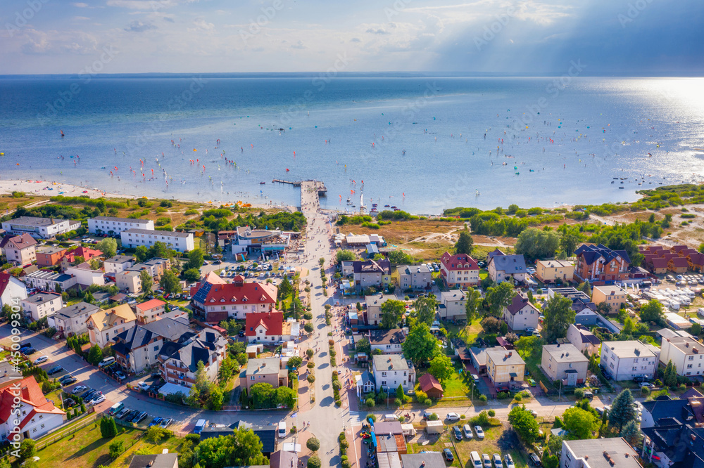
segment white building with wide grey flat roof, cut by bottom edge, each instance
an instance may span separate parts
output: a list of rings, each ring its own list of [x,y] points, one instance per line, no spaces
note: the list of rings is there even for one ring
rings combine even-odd
[[[622,437],[562,441],[560,468],[643,468]]]

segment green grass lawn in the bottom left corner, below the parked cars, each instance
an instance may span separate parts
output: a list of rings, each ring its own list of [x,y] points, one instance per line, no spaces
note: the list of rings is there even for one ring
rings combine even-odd
[[[89,424],[75,434],[61,439],[37,452],[37,457],[42,467],[63,467],[72,468],[98,467],[99,465],[110,464],[113,467],[127,467],[132,460],[134,452],[144,448],[146,453],[161,453],[164,448],[168,448],[170,453],[176,451],[181,443],[177,437],[169,438],[156,445],[142,438],[144,431],[138,429],[126,429],[118,426],[122,432],[114,438],[101,438],[100,427],[97,424]],[[125,452],[111,463],[108,455],[108,447],[113,441],[122,441]]]

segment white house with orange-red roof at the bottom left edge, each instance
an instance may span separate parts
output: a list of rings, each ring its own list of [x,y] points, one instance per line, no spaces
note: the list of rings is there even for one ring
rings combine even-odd
[[[22,438],[39,438],[66,420],[66,413],[47,400],[34,376],[11,380],[0,388],[0,440],[19,431]],[[18,424],[19,423],[19,424]]]

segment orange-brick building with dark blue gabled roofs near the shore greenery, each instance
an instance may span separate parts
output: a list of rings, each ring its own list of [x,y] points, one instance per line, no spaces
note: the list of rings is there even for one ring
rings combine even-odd
[[[605,245],[582,244],[577,251],[574,276],[579,281],[622,281],[628,279],[631,259],[625,250],[612,250]]]

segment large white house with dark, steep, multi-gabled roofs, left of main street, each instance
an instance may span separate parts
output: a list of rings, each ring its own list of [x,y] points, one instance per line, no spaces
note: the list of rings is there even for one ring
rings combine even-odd
[[[146,326],[160,322],[157,320]],[[227,340],[220,333],[206,328],[184,342],[165,342],[159,350],[159,369],[166,382],[190,388],[196,383],[196,370],[202,361],[208,380],[215,382],[226,351]]]

